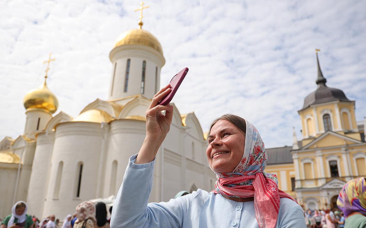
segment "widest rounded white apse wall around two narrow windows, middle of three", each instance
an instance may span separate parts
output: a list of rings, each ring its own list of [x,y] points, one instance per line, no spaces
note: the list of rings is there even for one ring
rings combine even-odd
[[[75,207],[81,202],[95,198],[100,152],[100,123],[66,122],[57,126],[43,217],[49,214],[65,217],[68,213],[75,212]],[[61,161],[63,169],[59,194],[55,197],[57,172]],[[82,177],[77,197],[81,163]]]

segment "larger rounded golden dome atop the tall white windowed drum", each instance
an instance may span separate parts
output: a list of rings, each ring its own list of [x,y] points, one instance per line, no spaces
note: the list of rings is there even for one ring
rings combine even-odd
[[[128,30],[119,35],[113,48],[128,44],[146,45],[163,55],[163,49],[161,48],[158,39],[156,39],[153,34],[141,28]]]

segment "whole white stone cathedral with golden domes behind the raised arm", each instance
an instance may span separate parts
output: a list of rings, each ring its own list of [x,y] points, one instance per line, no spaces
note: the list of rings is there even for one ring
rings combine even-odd
[[[165,64],[154,35],[139,28],[121,34],[109,53],[108,100],[96,99],[73,118],[57,111],[45,81],[23,100],[23,135],[0,142],[0,217],[26,201],[28,214],[63,218],[82,201],[116,195],[128,159],[145,138],[145,111],[160,87]],[[51,61],[51,58],[49,58]],[[48,67],[47,67],[48,69]],[[46,70],[47,71],[47,70]],[[181,190],[212,190],[216,176],[195,114],[174,106],[171,130],[156,157],[150,202],[168,201]]]

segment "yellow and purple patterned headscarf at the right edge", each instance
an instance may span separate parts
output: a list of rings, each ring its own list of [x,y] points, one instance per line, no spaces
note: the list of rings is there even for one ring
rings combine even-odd
[[[366,180],[364,177],[350,180],[343,186],[337,199],[337,206],[348,216],[359,212],[366,216]]]

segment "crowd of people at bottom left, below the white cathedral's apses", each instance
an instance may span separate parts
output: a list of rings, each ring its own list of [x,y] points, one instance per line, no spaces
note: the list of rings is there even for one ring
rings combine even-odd
[[[76,213],[68,214],[62,223],[54,214],[40,220],[27,214],[27,209],[26,202],[16,202],[11,214],[0,220],[1,228],[109,228],[110,217],[107,217],[107,206],[103,202],[82,202],[76,206]],[[112,207],[109,212],[112,213]]]

